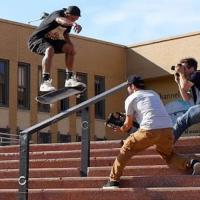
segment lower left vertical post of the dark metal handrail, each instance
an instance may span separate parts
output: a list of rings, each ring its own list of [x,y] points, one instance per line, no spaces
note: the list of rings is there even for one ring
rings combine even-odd
[[[28,200],[29,134],[20,135],[19,200]]]

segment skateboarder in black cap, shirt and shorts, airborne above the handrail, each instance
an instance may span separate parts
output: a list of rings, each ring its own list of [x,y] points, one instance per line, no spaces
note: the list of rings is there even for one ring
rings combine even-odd
[[[84,85],[77,81],[73,73],[75,50],[69,37],[72,28],[76,33],[80,33],[82,27],[76,23],[80,16],[81,11],[77,6],[69,6],[67,9],[54,11],[44,18],[30,36],[28,48],[43,56],[40,91],[55,90],[55,87],[51,84],[50,69],[53,56],[58,53],[65,54],[65,87]]]

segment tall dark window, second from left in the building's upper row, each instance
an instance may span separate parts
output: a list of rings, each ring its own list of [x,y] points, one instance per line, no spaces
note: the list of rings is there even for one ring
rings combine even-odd
[[[18,108],[30,108],[30,65],[18,64]]]

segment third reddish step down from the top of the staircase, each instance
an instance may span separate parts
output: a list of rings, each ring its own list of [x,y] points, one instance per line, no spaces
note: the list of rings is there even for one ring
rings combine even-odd
[[[196,154],[196,157],[200,156]],[[115,160],[112,157],[91,157],[91,167],[112,166]],[[199,158],[199,157],[198,157]],[[200,159],[199,159],[200,160]],[[30,168],[71,168],[80,167],[81,158],[54,158],[54,159],[35,159],[30,160]],[[135,155],[127,163],[127,166],[139,165],[166,165],[166,162],[160,155]],[[0,169],[17,169],[19,160],[0,161]]]

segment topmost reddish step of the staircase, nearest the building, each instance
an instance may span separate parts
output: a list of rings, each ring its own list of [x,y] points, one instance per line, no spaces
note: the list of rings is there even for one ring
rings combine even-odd
[[[120,148],[120,140],[111,141],[91,141],[91,149],[111,149]],[[198,146],[200,144],[200,136],[182,137],[176,143],[176,146]],[[80,150],[81,143],[54,143],[54,144],[31,144],[30,151],[69,151]],[[19,152],[19,145],[2,146],[0,147],[0,153],[13,153]]]

